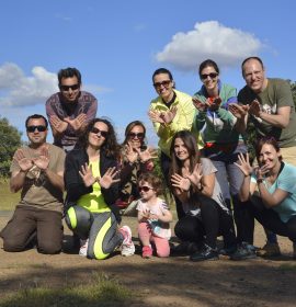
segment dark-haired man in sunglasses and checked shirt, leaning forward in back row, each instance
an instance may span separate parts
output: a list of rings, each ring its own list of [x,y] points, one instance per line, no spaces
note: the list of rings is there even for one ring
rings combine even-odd
[[[89,92],[81,91],[81,73],[77,68],[60,69],[59,92],[46,101],[46,113],[54,135],[54,144],[71,150],[79,134],[96,115],[98,101]]]

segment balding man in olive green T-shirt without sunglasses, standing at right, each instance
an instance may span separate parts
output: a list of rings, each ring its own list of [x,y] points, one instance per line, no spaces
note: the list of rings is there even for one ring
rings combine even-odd
[[[241,70],[247,83],[238,93],[238,101],[242,105],[230,106],[238,117],[237,127],[243,132],[248,123],[252,122],[257,138],[274,137],[284,161],[296,166],[296,113],[288,82],[266,78],[259,57],[244,59]],[[267,242],[259,253],[280,254],[276,236],[267,230],[266,235]]]

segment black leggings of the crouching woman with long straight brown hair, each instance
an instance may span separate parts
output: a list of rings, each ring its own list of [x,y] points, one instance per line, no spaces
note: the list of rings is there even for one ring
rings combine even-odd
[[[200,203],[201,217],[180,218],[174,227],[175,236],[182,241],[205,242],[216,248],[216,239],[221,235],[226,247],[236,245],[232,216],[209,197],[200,197]]]

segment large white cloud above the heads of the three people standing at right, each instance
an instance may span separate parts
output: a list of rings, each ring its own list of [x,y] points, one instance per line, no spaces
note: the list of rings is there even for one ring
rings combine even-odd
[[[169,62],[182,70],[196,69],[207,58],[219,66],[234,67],[246,57],[257,55],[263,46],[251,33],[207,21],[196,23],[193,31],[173,35],[156,57],[158,61]]]

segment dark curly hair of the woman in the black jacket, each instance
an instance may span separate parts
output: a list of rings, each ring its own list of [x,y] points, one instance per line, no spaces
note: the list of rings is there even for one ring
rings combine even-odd
[[[101,122],[107,126],[107,136],[104,144],[102,145],[101,150],[105,154],[106,157],[118,159],[119,157],[119,145],[117,143],[115,129],[111,122],[106,118],[94,118],[86,127],[83,133],[80,135],[78,140],[78,147],[87,148],[89,146],[89,134],[94,127],[95,123]]]

